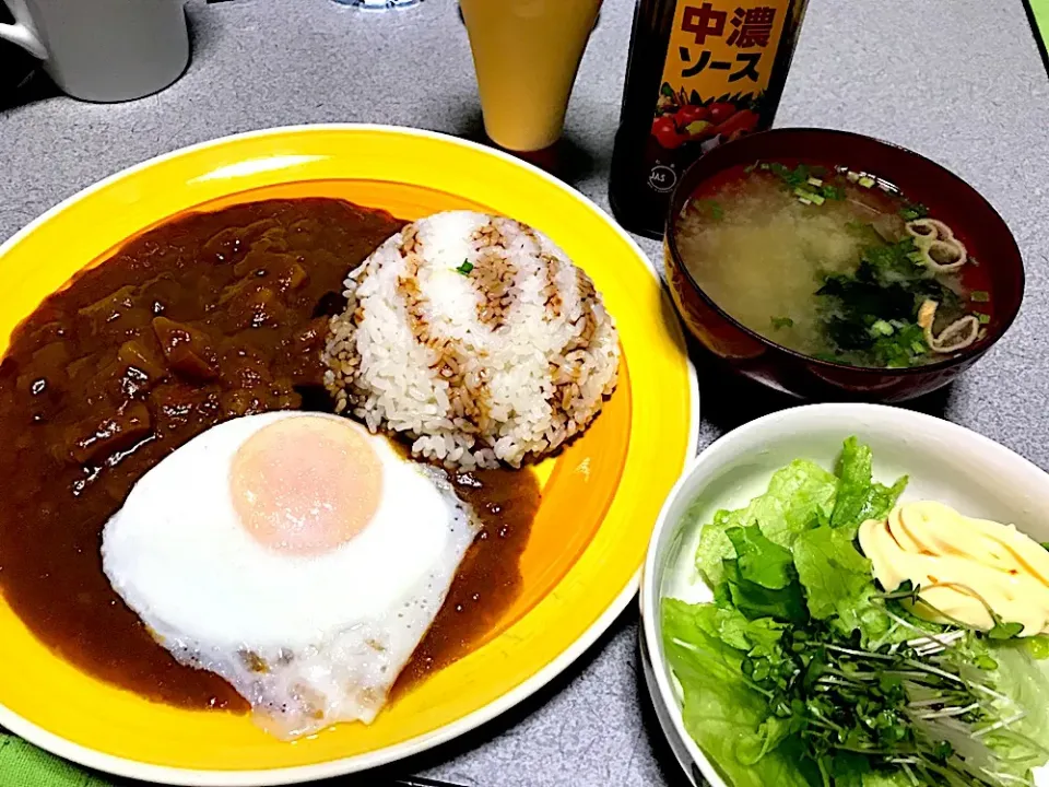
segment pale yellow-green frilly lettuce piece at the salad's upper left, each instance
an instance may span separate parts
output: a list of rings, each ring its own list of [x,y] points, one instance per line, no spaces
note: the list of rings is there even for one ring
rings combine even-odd
[[[722,561],[735,554],[727,530],[757,525],[765,538],[790,549],[800,533],[828,520],[837,483],[837,479],[818,465],[798,459],[777,470],[768,491],[746,507],[715,514],[714,521],[703,528],[696,551],[696,567],[707,585],[714,588],[721,583]]]

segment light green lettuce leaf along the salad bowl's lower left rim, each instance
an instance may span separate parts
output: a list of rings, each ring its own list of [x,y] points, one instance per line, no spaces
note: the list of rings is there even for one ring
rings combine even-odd
[[[718,609],[675,599],[662,603],[663,644],[684,694],[688,735],[734,787],[818,787],[815,766],[802,756],[797,737],[773,741],[753,759],[754,741],[769,716],[765,697],[743,677],[744,654],[719,637]],[[767,728],[766,728],[767,729]]]

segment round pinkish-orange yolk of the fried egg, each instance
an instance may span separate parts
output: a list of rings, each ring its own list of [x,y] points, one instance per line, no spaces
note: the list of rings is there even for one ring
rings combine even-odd
[[[368,526],[382,494],[382,465],[362,430],[302,415],[245,441],[229,486],[240,524],[259,543],[320,554]]]

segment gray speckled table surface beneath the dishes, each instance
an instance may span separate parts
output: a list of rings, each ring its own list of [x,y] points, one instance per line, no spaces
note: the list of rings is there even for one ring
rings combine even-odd
[[[605,0],[567,118],[579,149],[571,183],[605,208],[633,5]],[[39,87],[0,113],[0,238],[120,168],[223,134],[331,121],[478,128],[451,0],[378,14],[329,0],[191,0],[188,11],[193,61],[158,95],[97,106]],[[1049,468],[1049,80],[1019,0],[811,0],[777,122],[906,145],[998,208],[1027,263],[1024,308],[978,367],[916,407]],[[643,246],[658,258],[659,244]],[[700,446],[789,404],[699,372]],[[539,696],[393,775],[491,787],[684,784],[638,683],[636,637],[632,606]]]

